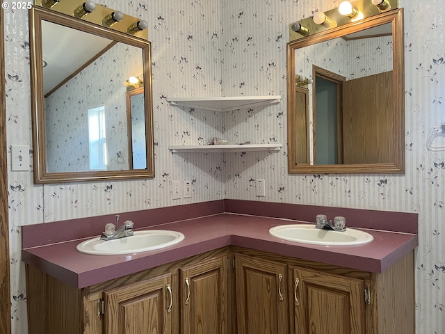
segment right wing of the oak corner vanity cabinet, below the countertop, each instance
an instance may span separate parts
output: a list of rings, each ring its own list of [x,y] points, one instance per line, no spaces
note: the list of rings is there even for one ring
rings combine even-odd
[[[415,333],[414,251],[383,273],[239,247],[234,257],[238,334]]]

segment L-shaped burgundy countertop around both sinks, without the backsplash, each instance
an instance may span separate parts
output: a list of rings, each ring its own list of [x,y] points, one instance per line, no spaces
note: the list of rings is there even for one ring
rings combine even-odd
[[[268,232],[273,226],[296,222],[307,223],[222,213],[144,228],[184,233],[184,241],[160,250],[128,255],[87,255],[76,250],[76,245],[84,239],[76,239],[24,248],[22,260],[65,283],[82,288],[229,245],[373,273],[382,273],[418,245],[417,234],[406,232],[366,230],[374,240],[360,246],[299,244],[277,239]]]

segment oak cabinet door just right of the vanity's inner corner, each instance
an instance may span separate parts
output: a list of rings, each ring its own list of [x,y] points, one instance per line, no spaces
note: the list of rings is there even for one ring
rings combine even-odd
[[[238,334],[289,333],[287,267],[235,255]]]

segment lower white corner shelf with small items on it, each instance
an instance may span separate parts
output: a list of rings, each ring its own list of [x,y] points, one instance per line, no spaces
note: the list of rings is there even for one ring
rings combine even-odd
[[[238,144],[238,145],[170,145],[172,152],[252,152],[279,151],[283,144]]]

